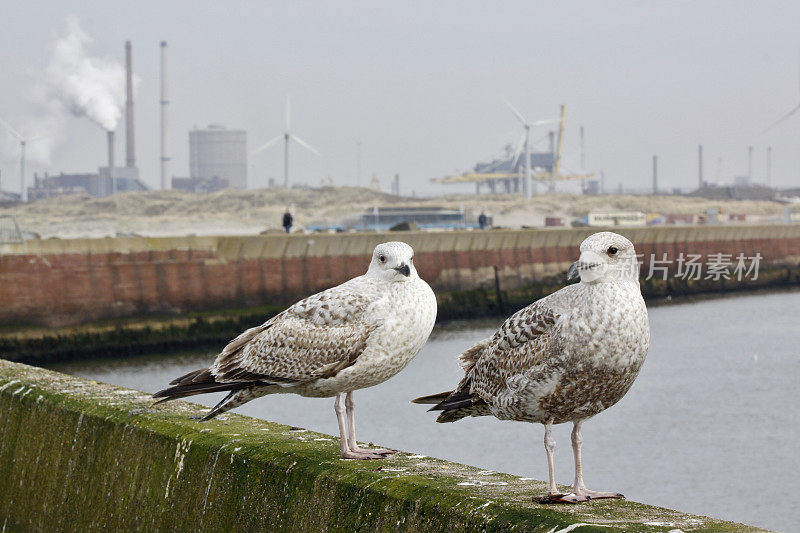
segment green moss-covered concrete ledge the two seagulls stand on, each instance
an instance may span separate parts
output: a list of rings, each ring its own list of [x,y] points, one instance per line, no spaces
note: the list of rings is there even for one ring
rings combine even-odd
[[[333,437],[0,360],[0,520],[37,531],[760,531],[419,455],[343,461]]]

